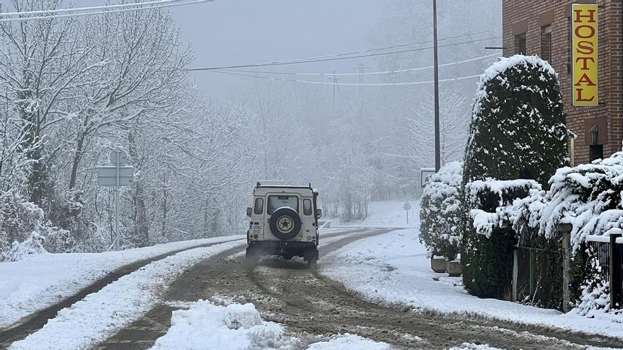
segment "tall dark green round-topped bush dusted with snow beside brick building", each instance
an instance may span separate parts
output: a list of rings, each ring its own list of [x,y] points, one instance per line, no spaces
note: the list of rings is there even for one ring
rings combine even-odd
[[[497,209],[500,193],[493,187],[474,188],[482,185],[477,181],[528,179],[547,187],[549,177],[568,163],[571,132],[565,123],[558,76],[539,57],[502,58],[481,76],[463,169],[469,199],[464,203],[461,260],[463,283],[469,293],[508,296],[513,246],[517,243],[512,227],[491,225],[503,215]],[[506,197],[504,204],[527,197],[530,189],[538,190],[525,183],[509,184],[502,196]],[[484,235],[474,227],[472,209],[481,210],[476,211],[480,214],[476,226]]]

